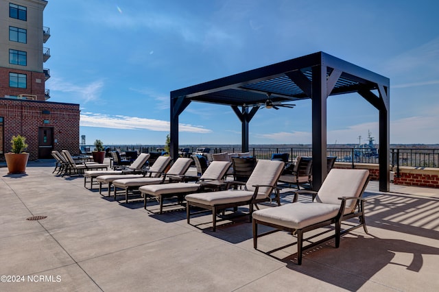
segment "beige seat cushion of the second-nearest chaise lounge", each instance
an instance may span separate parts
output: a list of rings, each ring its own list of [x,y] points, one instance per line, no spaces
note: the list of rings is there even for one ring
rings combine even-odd
[[[228,190],[209,193],[193,193],[187,195],[186,200],[189,202],[215,206],[219,204],[246,202],[252,198],[252,195],[252,191]],[[265,194],[261,194],[261,197],[265,197]]]

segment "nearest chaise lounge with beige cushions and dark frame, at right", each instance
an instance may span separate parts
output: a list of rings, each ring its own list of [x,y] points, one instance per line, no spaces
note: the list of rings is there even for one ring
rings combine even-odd
[[[335,247],[339,247],[342,234],[361,226],[363,226],[364,232],[368,233],[364,219],[364,199],[361,198],[368,184],[368,179],[369,171],[366,169],[333,169],[318,192],[297,191],[292,204],[255,211],[253,213],[254,248],[257,249],[257,239],[261,236],[279,230],[291,232],[297,236],[297,260],[298,265],[301,265],[304,250],[333,238],[335,238]],[[297,202],[298,194],[304,193],[311,194],[313,202]],[[353,217],[359,218],[359,224],[341,230],[342,221]],[[258,234],[258,224],[271,226],[276,230]],[[313,243],[310,240],[316,238],[315,234],[307,239],[303,238],[305,232],[330,226],[331,224],[335,224],[335,234]],[[324,233],[322,232],[319,235]],[[304,247],[304,241],[311,243]]]

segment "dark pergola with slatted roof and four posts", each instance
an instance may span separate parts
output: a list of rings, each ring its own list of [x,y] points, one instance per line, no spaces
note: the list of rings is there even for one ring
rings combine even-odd
[[[390,191],[390,80],[324,52],[171,91],[171,157],[178,157],[178,117],[191,101],[230,106],[241,121],[242,151],[248,125],[265,102],[311,99],[313,188],[327,175],[327,97],[359,93],[379,110],[379,191]]]

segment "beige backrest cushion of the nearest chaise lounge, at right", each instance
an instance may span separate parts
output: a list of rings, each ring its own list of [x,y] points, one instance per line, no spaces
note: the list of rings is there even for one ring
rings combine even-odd
[[[340,206],[339,197],[359,197],[368,175],[367,169],[332,169],[325,180],[327,183],[322,184],[314,202]],[[353,212],[356,203],[356,200],[347,200],[344,213]]]

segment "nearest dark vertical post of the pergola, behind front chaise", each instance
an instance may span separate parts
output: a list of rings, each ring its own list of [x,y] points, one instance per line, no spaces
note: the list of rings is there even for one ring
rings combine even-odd
[[[327,176],[327,67],[312,67],[313,190]]]

